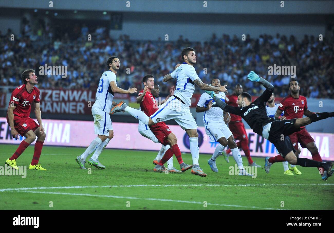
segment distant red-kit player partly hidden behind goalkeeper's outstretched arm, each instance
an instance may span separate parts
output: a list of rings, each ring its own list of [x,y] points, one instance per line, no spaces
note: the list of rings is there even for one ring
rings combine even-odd
[[[237,107],[238,104],[236,103],[237,99],[238,99],[238,95],[240,95],[243,92],[242,86],[241,84],[236,84],[235,89],[234,89],[234,93],[232,95],[229,95],[226,97],[225,99],[225,103],[228,105],[231,105],[233,107]],[[248,147],[248,137],[247,137],[247,133],[245,130],[245,126],[242,123],[242,118],[241,116],[238,115],[234,115],[232,113],[230,113],[231,115],[231,119],[228,123],[228,128],[231,130],[234,139],[235,140],[239,140],[236,145],[238,146],[238,148],[242,148],[243,152],[245,153],[245,156],[248,160],[248,165],[249,166],[256,166],[256,167],[261,167],[260,165],[256,164],[252,157],[251,157],[251,152],[249,151],[249,147]],[[226,150],[226,152],[223,152],[223,155],[226,159],[227,162],[228,161],[228,156],[225,155],[225,153],[227,155],[229,155],[231,153],[231,149]]]

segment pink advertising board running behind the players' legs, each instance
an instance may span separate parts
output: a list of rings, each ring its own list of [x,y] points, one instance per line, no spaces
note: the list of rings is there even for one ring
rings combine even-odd
[[[94,135],[94,124],[91,121],[68,121],[43,119],[43,126],[46,132],[44,145],[56,146],[79,146],[87,147],[96,137]],[[136,149],[136,150],[160,150],[161,145],[153,143],[138,133],[138,124],[114,122],[114,138],[109,142],[107,148]],[[185,131],[178,125],[170,125],[171,131],[178,138],[178,145],[182,152],[190,152],[189,138]],[[204,127],[198,127],[199,151],[200,153],[212,154],[216,143],[211,143],[205,134]],[[276,156],[277,151],[272,143],[262,136],[255,134],[253,130],[246,129],[249,138],[249,149],[252,156]],[[323,160],[334,161],[334,134],[313,133],[320,156]],[[23,138],[14,140],[10,134],[10,127],[6,118],[0,118],[0,143],[19,144]],[[33,143],[34,144],[34,143]],[[241,151],[241,155],[244,155]],[[312,158],[307,149],[303,149],[300,155],[305,158]]]

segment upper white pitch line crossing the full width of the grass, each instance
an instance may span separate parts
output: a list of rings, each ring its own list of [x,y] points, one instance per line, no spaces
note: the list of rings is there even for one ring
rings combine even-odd
[[[104,186],[60,186],[60,187],[31,187],[31,188],[5,188],[0,189],[0,192],[7,191],[18,191],[18,190],[37,190],[37,189],[79,189],[79,188],[122,188],[122,187],[187,187],[187,186],[217,186],[217,187],[232,187],[232,186],[240,186],[240,187],[252,187],[252,186],[287,186],[287,185],[334,185],[332,183],[322,183],[322,184],[140,184],[140,185],[104,185]]]

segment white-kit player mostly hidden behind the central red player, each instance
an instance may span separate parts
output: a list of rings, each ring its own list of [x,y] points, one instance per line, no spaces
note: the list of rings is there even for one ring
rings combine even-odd
[[[154,98],[158,98],[160,95],[160,86],[157,83],[154,83],[154,88],[151,90],[152,95],[154,96]],[[174,95],[174,86],[171,87],[170,89],[170,94],[166,97],[165,100],[161,101],[161,104],[163,104],[164,102],[167,101],[167,99],[169,97],[171,97],[172,95]],[[137,101],[137,103],[139,103]],[[158,102],[159,103],[159,102]],[[140,108],[139,108],[140,110]],[[152,131],[150,130],[150,128],[145,125],[143,122],[139,121],[138,124],[138,132],[145,138],[148,138],[150,140],[152,140],[152,142],[154,143],[160,143],[159,140],[157,139],[157,137],[152,133]],[[161,145],[161,149],[157,155],[157,157],[153,160],[153,164],[157,165],[158,162],[162,159],[162,157],[164,156],[165,152],[170,148],[170,145]],[[167,168],[168,168],[168,172],[171,173],[182,173],[181,171],[177,170],[176,168],[174,168],[173,166],[173,156],[167,161]]]

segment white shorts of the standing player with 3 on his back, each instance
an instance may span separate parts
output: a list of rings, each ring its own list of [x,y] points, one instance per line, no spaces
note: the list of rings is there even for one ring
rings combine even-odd
[[[98,108],[92,108],[94,117],[95,134],[109,136],[109,131],[113,130],[109,113]]]

